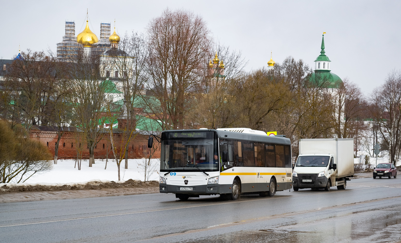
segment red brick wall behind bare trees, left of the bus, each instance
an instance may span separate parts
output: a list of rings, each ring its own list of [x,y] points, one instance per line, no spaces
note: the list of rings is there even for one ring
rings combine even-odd
[[[109,134],[105,134],[97,146],[95,148],[95,158],[106,158],[107,154],[107,144],[109,145],[109,158],[113,158],[113,152],[111,151],[110,142],[107,141],[107,136]],[[48,149],[52,156],[54,156],[55,144],[57,142],[57,132],[48,132],[41,130],[31,130],[30,138],[40,141],[44,144]],[[115,134],[114,140],[118,143],[121,141],[119,138],[119,134]],[[104,148],[103,148],[104,144]],[[75,141],[75,134],[73,132],[64,132],[61,137],[59,143],[59,154],[58,159],[74,159],[77,157],[77,147],[79,144]],[[83,146],[84,150],[82,153],[82,159],[89,158],[89,150],[87,148],[86,142],[81,142],[81,146]],[[154,141],[154,148],[156,148],[156,152],[153,154],[152,158],[160,158],[160,143],[156,140]],[[153,148],[152,148],[153,149]],[[136,159],[136,158],[144,158],[149,156],[150,149],[148,148],[148,136],[147,135],[137,135],[134,139],[131,140],[130,145],[128,147],[128,158]]]

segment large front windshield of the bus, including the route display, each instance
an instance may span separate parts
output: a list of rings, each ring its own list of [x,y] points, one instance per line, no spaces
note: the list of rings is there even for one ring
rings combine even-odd
[[[166,132],[161,152],[160,171],[219,170],[217,139],[212,131]]]

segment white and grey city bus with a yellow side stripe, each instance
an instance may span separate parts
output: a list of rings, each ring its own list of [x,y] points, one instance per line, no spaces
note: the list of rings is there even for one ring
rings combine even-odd
[[[160,142],[160,192],[181,200],[274,196],[292,187],[291,142],[284,136],[247,128],[169,130]]]

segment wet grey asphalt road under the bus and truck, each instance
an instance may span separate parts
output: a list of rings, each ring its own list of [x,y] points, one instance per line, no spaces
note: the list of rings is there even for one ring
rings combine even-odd
[[[0,242],[398,242],[401,178],[222,201],[137,194],[0,203]]]

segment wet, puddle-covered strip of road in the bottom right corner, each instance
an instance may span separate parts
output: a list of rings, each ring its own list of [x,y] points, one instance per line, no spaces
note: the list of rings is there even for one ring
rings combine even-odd
[[[389,243],[401,240],[400,207],[355,212],[273,229],[237,231],[185,243]]]

